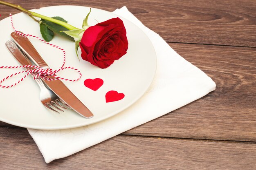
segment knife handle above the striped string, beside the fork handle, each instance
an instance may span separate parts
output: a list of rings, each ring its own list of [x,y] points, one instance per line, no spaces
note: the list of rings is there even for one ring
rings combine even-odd
[[[37,66],[43,69],[49,68],[26,36],[13,32],[11,33],[11,38]]]

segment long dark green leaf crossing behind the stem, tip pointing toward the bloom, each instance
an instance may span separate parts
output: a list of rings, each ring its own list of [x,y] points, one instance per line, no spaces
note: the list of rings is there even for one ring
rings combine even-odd
[[[66,20],[64,20],[61,17],[52,17],[52,18],[61,20],[63,22],[67,22]],[[58,24],[55,24],[53,22],[47,21],[47,20],[43,20],[43,19],[41,19],[40,22],[41,22],[40,24],[46,25],[47,28],[50,29],[51,31],[53,31],[54,33],[57,33],[57,34],[65,37],[65,38],[68,38],[69,40],[75,42],[74,38],[70,37],[69,35],[67,35],[64,32],[61,32],[61,31],[68,31],[68,29],[66,29],[65,27],[63,27],[61,25],[58,25]]]

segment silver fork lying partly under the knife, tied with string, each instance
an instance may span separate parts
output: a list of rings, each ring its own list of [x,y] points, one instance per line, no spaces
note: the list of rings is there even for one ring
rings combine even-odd
[[[31,61],[27,58],[27,56],[23,53],[23,51],[13,42],[13,40],[9,40],[5,43],[7,49],[10,51],[11,55],[21,64],[21,65],[32,65]],[[26,70],[33,70],[34,68],[25,68]],[[31,74],[35,77],[34,74]],[[37,84],[40,87],[40,101],[42,104],[54,111],[59,113],[57,110],[62,111],[62,109],[70,108],[63,100],[61,100],[52,90],[47,88],[43,81],[40,78],[35,79]],[[67,107],[67,108],[66,108]],[[61,109],[62,108],[62,109]]]

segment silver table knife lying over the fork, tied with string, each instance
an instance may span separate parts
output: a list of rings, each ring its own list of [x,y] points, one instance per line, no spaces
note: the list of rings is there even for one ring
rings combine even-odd
[[[34,46],[27,37],[23,37],[16,32],[11,33],[11,38],[20,47],[20,49],[37,65],[43,69],[49,68],[43,58],[38,54]],[[49,78],[54,78],[49,76]],[[74,111],[85,118],[92,118],[92,112],[61,82],[61,80],[48,81],[42,79],[45,84],[68,104]]]

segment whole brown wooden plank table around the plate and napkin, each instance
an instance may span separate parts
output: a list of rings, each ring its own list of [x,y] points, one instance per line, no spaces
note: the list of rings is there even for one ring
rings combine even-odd
[[[0,169],[256,169],[255,0],[9,0],[26,9],[124,5],[207,73],[208,95],[72,156],[46,164],[25,128],[0,122]],[[0,5],[2,18],[19,11]]]

